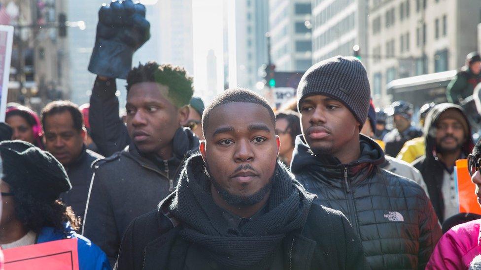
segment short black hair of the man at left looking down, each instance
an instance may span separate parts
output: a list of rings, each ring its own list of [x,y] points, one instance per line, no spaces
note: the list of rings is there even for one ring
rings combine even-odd
[[[80,132],[83,127],[83,115],[78,109],[78,106],[68,100],[52,101],[43,107],[40,115],[43,129],[45,129],[45,120],[47,117],[65,112],[68,112],[72,117],[73,128]]]

